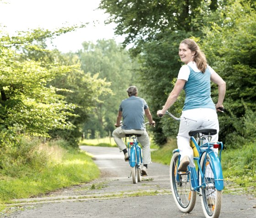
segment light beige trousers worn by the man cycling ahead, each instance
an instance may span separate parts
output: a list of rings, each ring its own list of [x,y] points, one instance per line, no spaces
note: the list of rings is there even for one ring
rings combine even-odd
[[[125,148],[127,148],[122,138],[125,137],[125,134],[131,134],[131,133],[141,135],[140,137],[138,137],[138,142],[142,146],[142,162],[143,164],[151,163],[150,141],[149,141],[149,135],[146,130],[135,130],[135,129],[125,130],[125,129],[122,129],[122,127],[117,127],[112,132],[112,136],[114,137],[114,140],[117,143],[117,146],[119,147],[120,152],[122,152]]]

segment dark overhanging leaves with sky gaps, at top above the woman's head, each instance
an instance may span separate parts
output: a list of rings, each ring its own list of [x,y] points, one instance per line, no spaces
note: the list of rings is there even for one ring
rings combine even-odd
[[[218,1],[221,4],[222,1]],[[209,10],[216,10],[218,2],[195,0],[102,0],[100,8],[110,14],[108,23],[117,24],[115,33],[124,35],[124,45],[130,43],[140,53],[145,42],[158,41],[159,33],[172,34],[176,30],[200,31]],[[198,17],[193,24],[192,20]]]

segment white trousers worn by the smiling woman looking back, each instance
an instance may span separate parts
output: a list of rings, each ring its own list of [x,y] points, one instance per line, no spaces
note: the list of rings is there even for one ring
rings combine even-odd
[[[181,160],[184,156],[189,157],[190,167],[195,167],[195,164],[193,161],[193,150],[192,147],[190,147],[190,136],[188,135],[188,132],[201,128],[216,129],[217,134],[212,136],[211,142],[218,142],[219,121],[215,110],[210,108],[196,108],[182,111],[177,145],[180,151]],[[218,152],[218,150],[216,152]]]

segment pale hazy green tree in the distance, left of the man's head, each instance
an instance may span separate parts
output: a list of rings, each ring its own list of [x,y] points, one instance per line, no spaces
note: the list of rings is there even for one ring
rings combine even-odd
[[[89,132],[92,138],[96,134],[100,137],[109,136],[114,130],[118,106],[128,97],[127,87],[137,81],[134,70],[138,64],[114,40],[98,40],[96,44],[84,42],[78,56],[84,73],[98,75],[110,82],[112,90],[112,93],[100,97],[101,102],[96,102],[96,108],[90,114],[90,125],[86,123],[84,131]]]

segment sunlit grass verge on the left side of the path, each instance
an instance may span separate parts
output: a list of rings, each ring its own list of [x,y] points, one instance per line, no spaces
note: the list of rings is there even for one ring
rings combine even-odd
[[[1,203],[89,182],[99,176],[99,169],[85,152],[66,150],[58,146],[44,146],[45,151],[50,151],[49,160],[40,171],[31,171],[27,166],[23,167],[23,172],[16,177],[0,174]]]

